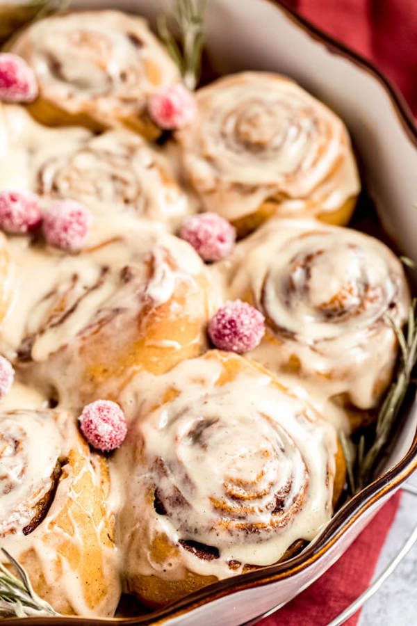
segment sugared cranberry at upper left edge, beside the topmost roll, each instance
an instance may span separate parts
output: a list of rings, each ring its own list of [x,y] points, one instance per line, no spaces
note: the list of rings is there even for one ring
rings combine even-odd
[[[31,67],[16,54],[0,53],[0,99],[31,102],[38,95],[38,84]]]

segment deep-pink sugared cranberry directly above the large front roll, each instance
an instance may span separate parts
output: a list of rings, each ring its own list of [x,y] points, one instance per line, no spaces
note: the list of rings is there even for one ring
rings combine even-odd
[[[256,348],[264,332],[263,314],[242,300],[225,303],[208,324],[208,335],[215,347],[232,352]]]

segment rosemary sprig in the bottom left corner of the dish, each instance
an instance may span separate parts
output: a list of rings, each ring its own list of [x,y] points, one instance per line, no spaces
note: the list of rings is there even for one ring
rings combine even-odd
[[[31,586],[28,575],[13,556],[1,548],[17,576],[0,563],[0,617],[26,617],[32,615],[58,615],[56,611]]]

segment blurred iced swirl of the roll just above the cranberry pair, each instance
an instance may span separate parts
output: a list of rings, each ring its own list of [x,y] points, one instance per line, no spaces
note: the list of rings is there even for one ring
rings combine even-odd
[[[137,135],[108,131],[67,158],[43,163],[38,193],[74,198],[97,216],[128,213],[178,230],[190,212],[188,198],[167,171],[161,155]]]

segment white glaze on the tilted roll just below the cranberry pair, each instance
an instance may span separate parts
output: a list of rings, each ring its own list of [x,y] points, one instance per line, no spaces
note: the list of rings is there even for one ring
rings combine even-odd
[[[89,245],[79,255],[64,255],[10,239],[15,298],[0,328],[0,351],[8,358],[29,336],[31,358],[45,360],[112,310],[129,319],[145,304],[170,300],[178,281],[204,273],[193,248],[146,221],[102,218]]]

